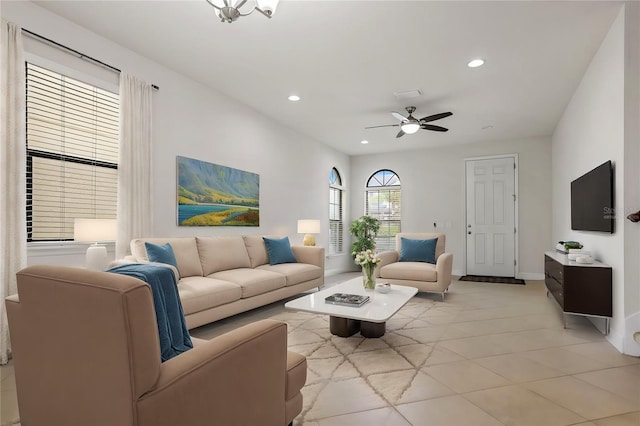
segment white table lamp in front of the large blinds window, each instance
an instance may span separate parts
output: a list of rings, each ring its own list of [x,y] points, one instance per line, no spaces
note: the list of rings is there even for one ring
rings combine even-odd
[[[109,264],[107,247],[100,241],[115,241],[117,234],[115,219],[75,219],[73,239],[79,242],[93,242],[87,248],[85,264],[88,269],[103,271]]]

